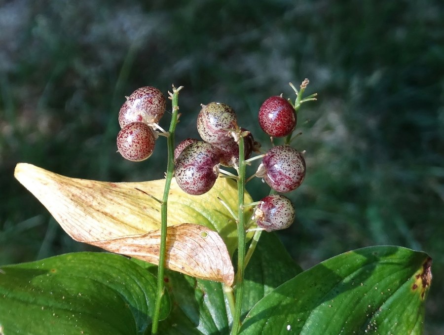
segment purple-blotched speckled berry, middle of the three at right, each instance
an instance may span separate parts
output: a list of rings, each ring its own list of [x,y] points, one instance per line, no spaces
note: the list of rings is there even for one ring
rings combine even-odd
[[[290,192],[304,180],[305,159],[292,147],[273,147],[263,157],[256,176],[278,192]]]

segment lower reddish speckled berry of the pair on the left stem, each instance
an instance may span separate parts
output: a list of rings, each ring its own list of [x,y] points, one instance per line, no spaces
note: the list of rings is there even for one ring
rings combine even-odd
[[[117,135],[117,149],[123,158],[135,162],[147,159],[154,150],[156,135],[143,122],[131,122]]]

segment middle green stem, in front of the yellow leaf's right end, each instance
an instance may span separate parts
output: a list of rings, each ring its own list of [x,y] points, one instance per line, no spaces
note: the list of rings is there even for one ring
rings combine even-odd
[[[240,326],[240,316],[242,311],[243,279],[244,279],[244,259],[245,259],[245,223],[244,223],[244,193],[245,193],[245,155],[244,155],[244,138],[239,138],[239,176],[237,181],[237,197],[238,197],[238,222],[237,222],[237,281],[235,283],[236,290],[236,306],[233,315],[233,327],[231,335],[237,335]]]

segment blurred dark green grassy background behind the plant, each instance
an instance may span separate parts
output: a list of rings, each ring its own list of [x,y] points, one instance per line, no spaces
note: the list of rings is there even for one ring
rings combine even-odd
[[[0,264],[89,248],[14,180],[17,162],[163,177],[164,140],[142,163],[115,152],[118,110],[136,88],[185,86],[178,140],[198,136],[201,103],[222,101],[266,149],[259,106],[309,78],[319,99],[299,113],[307,177],[284,243],[303,268],[377,244],[426,251],[425,334],[444,334],[442,1],[0,0],[0,45]],[[256,200],[268,193],[249,184]]]

